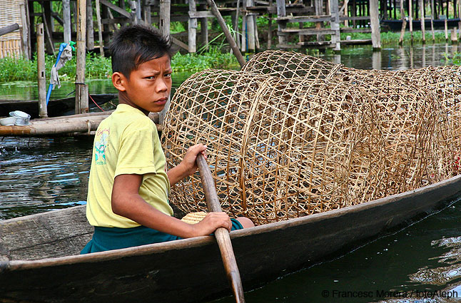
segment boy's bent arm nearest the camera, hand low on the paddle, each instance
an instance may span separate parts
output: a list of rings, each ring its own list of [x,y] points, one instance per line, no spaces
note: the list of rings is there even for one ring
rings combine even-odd
[[[188,224],[164,214],[149,205],[138,194],[142,175],[118,175],[112,188],[112,211],[141,225],[178,237],[210,235],[218,227],[231,230],[232,223],[225,212],[211,212],[197,224]]]

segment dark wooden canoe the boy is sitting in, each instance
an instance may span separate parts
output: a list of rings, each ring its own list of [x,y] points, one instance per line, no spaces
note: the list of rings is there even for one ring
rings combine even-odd
[[[461,176],[320,214],[231,232],[243,288],[352,250],[439,210]],[[203,302],[230,294],[213,237],[76,255],[84,205],[0,221],[0,302]]]

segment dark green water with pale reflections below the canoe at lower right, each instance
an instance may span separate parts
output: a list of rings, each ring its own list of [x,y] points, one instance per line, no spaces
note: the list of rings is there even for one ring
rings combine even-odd
[[[245,299],[285,303],[460,302],[460,210],[458,200],[445,210],[336,260],[245,292]],[[360,297],[360,292],[370,296]],[[400,297],[393,296],[394,292]],[[432,296],[424,296],[430,292]],[[439,297],[443,292],[445,297]],[[214,302],[235,301],[226,297]]]

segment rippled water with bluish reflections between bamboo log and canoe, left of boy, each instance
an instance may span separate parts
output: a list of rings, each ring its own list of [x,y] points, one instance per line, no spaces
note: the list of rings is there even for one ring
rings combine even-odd
[[[90,138],[3,138],[0,220],[78,205],[86,200]]]

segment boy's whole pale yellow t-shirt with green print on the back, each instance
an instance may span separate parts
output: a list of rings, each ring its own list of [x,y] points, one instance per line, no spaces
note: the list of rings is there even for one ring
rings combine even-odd
[[[143,175],[139,195],[157,210],[173,215],[168,205],[170,183],[156,125],[137,108],[119,104],[96,130],[88,181],[86,217],[93,226],[137,227],[112,212],[113,180],[117,175]]]

